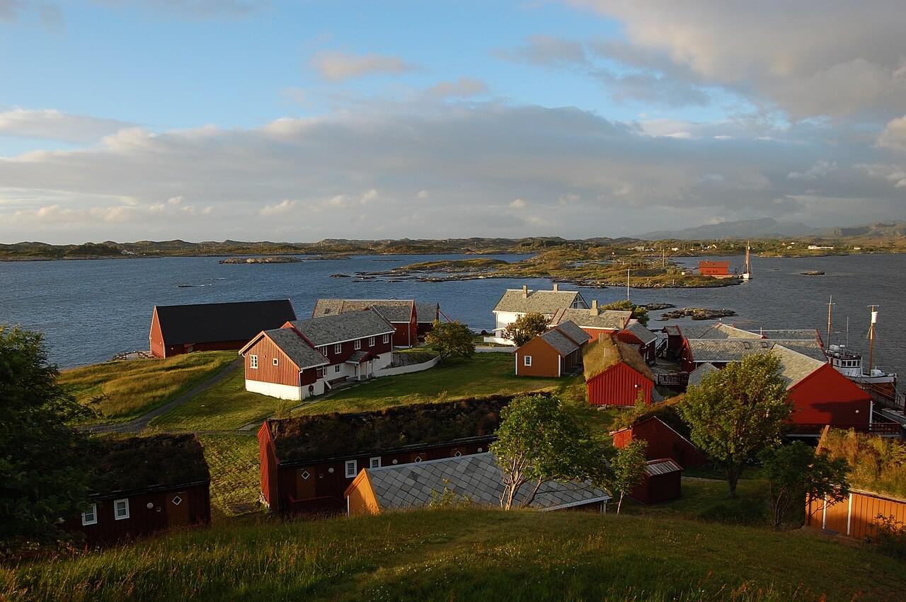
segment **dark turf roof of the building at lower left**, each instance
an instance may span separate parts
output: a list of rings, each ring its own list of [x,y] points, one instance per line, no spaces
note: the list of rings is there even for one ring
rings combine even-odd
[[[95,439],[92,454],[92,494],[96,497],[210,480],[196,435]]]

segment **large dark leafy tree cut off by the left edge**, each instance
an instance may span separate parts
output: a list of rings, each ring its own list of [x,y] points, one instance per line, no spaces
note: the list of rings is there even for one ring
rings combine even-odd
[[[43,335],[0,326],[0,546],[53,537],[88,502],[88,439],[66,423],[90,416],[57,383]]]

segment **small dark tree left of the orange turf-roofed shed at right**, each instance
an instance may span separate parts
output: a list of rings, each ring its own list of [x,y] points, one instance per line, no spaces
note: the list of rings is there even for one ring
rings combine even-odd
[[[762,466],[776,530],[780,530],[790,508],[805,504],[806,496],[840,502],[849,495],[849,464],[843,458],[834,460],[827,454],[815,453],[801,441],[766,450]]]

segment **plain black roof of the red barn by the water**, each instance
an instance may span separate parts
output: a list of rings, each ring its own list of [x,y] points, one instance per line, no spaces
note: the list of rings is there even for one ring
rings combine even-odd
[[[288,299],[156,305],[165,345],[248,340],[262,330],[280,328],[295,320]]]

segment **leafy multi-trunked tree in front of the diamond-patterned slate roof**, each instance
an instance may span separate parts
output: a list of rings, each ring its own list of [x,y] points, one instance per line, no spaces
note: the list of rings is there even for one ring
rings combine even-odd
[[[548,481],[603,483],[607,465],[592,434],[578,425],[558,397],[516,397],[500,412],[497,440],[490,451],[504,473],[500,506],[510,510],[516,495],[528,484],[532,489],[520,505],[535,501]]]

